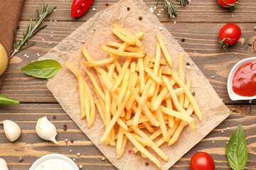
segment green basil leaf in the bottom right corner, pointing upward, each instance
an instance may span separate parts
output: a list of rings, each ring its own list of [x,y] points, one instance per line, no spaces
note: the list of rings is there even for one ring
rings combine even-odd
[[[243,170],[247,163],[247,144],[241,125],[233,132],[226,146],[228,164],[234,170]]]

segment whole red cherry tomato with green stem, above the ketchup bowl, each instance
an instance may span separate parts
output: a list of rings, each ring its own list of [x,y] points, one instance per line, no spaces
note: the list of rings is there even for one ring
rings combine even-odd
[[[226,49],[228,45],[238,42],[241,37],[241,29],[235,23],[228,23],[220,29],[219,38],[220,45]]]

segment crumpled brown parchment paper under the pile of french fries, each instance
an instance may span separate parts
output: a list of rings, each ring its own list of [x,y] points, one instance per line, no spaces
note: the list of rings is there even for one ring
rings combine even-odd
[[[131,10],[127,11],[127,7]],[[142,16],[142,21],[139,21],[139,16]],[[48,54],[41,57],[40,60],[53,59],[58,60],[61,64],[65,60],[72,62],[75,67],[83,67],[80,63],[85,61],[82,56],[80,47],[82,40],[85,41],[85,47],[90,55],[95,60],[102,60],[109,57],[106,52],[102,52],[99,43],[105,45],[107,42],[119,40],[112,34],[112,24],[117,23],[122,28],[125,28],[131,33],[138,33],[144,31],[145,36],[142,38],[142,43],[145,45],[145,50],[148,55],[155,56],[156,50],[156,37],[159,34],[164,42],[167,42],[167,48],[174,59],[174,70],[178,69],[178,50],[184,53],[185,62],[190,62],[191,70],[186,69],[186,78],[191,79],[191,91],[196,92],[198,98],[198,105],[203,113],[203,121],[199,122],[196,117],[196,132],[191,132],[189,127],[185,128],[181,136],[171,147],[167,143],[160,148],[169,156],[169,162],[164,162],[156,156],[162,165],[162,169],[169,169],[175,162],[180,159],[183,154],[186,154],[194,145],[200,142],[203,137],[220,124],[225,118],[230,115],[229,109],[220,100],[218,95],[210,86],[210,83],[203,76],[202,72],[196,67],[191,58],[183,51],[178,42],[174,40],[168,30],[160,23],[154,16],[144,2],[136,0],[122,0],[114,6],[107,8],[105,11],[100,11],[95,14],[89,21],[84,23],[80,28],[74,31],[68,38],[65,38],[59,45],[50,50]],[[156,29],[156,26],[163,27],[163,30]],[[97,29],[95,29],[97,28]],[[70,57],[70,58],[69,58]],[[164,57],[164,56],[162,56]],[[69,58],[69,59],[68,59]],[[119,60],[125,60],[125,57],[119,57]],[[169,68],[166,68],[169,69]],[[85,80],[92,86],[90,79],[87,77],[83,69],[81,69]],[[95,74],[93,69],[90,71]],[[97,77],[97,74],[95,74]],[[100,116],[96,115],[95,123],[90,129],[86,127],[86,120],[80,119],[80,102],[78,94],[78,81],[73,74],[63,66],[60,72],[48,81],[48,89],[53,93],[56,100],[63,107],[64,111],[70,115],[70,118],[81,128],[85,135],[92,140],[92,142],[105,154],[107,159],[114,164],[118,169],[157,169],[154,163],[149,159],[143,159],[140,154],[129,154],[128,150],[132,149],[133,145],[129,142],[122,158],[117,159],[114,147],[105,146],[100,142],[105,126],[100,120]],[[95,96],[96,98],[96,96]],[[145,162],[149,162],[149,166],[145,166]]]

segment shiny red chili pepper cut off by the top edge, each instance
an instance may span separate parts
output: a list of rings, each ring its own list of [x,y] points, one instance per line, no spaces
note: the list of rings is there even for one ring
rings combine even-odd
[[[84,14],[92,5],[94,0],[74,0],[71,7],[71,17],[79,17]]]

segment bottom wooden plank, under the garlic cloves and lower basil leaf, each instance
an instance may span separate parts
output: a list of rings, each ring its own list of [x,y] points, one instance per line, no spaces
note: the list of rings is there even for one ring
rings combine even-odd
[[[228,170],[228,162],[225,156],[225,145],[228,142],[238,124],[241,123],[245,131],[248,147],[247,169],[256,169],[255,145],[256,145],[256,106],[228,106],[232,114],[223,121],[217,128],[208,134],[191,151],[185,154],[171,169],[189,169],[189,162],[196,152],[208,152],[215,160],[216,169]],[[251,108],[251,112],[248,111]],[[56,116],[53,119],[53,115]],[[36,135],[36,120],[47,116],[56,126],[58,135],[56,139],[60,145],[53,142],[41,140]],[[102,153],[82,133],[69,116],[63,111],[59,104],[21,104],[20,106],[0,106],[0,120],[14,120],[21,126],[22,135],[14,143],[6,140],[3,127],[0,125],[0,157],[6,159],[9,169],[27,170],[39,157],[50,153],[64,154],[75,163],[82,164],[83,169],[116,169],[107,161],[102,161]],[[214,119],[213,119],[214,120]],[[63,130],[63,125],[68,125],[68,130]],[[222,132],[223,130],[223,132]],[[65,139],[73,139],[74,142],[65,144]],[[214,141],[214,142],[213,142]],[[70,152],[71,149],[71,152]],[[76,154],[80,152],[81,156]],[[127,151],[128,152],[128,149]],[[23,157],[23,162],[18,162],[18,157]],[[144,160],[145,163],[149,160]],[[149,162],[149,164],[152,164]]]

